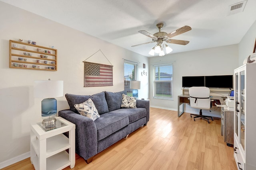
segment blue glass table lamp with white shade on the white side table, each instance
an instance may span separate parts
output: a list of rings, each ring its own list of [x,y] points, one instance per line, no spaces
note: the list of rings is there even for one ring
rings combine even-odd
[[[54,127],[57,114],[56,97],[63,96],[62,80],[34,80],[34,97],[45,98],[41,102],[42,124],[48,127]]]

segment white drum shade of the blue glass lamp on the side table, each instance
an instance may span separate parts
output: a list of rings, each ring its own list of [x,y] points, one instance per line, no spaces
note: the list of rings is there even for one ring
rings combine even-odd
[[[62,80],[34,80],[35,98],[56,98],[63,96]]]

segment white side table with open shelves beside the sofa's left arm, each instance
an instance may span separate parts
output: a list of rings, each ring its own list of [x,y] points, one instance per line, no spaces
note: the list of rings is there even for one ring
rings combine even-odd
[[[75,166],[76,125],[62,117],[56,119],[56,129],[52,130],[44,129],[42,123],[30,125],[30,160],[36,170],[62,170]],[[64,132],[69,133],[69,138],[62,134]]]

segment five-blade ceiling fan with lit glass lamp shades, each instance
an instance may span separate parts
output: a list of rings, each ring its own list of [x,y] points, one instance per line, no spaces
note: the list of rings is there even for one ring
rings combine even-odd
[[[148,31],[144,31],[144,30],[138,31],[139,33],[142,33],[143,35],[146,35],[146,36],[152,38],[152,41],[147,42],[147,43],[138,44],[138,45],[132,45],[132,47],[156,42],[156,45],[151,49],[149,54],[154,55],[154,53],[159,53],[159,56],[164,56],[164,47],[166,49],[167,54],[172,52],[172,49],[168,45],[166,45],[166,44],[162,45],[162,43],[164,41],[166,43],[173,43],[173,44],[179,44],[179,45],[187,45],[189,43],[189,41],[170,39],[170,38],[180,35],[182,33],[185,33],[187,31],[190,31],[191,30],[190,26],[185,25],[184,27],[176,29],[175,31],[172,31],[170,33],[161,32],[161,28],[163,26],[164,26],[163,23],[156,24],[156,27],[159,29],[159,32],[154,33],[153,35],[151,33],[149,33]]]

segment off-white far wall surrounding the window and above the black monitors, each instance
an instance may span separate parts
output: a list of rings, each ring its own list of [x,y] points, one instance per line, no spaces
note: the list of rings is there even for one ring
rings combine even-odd
[[[178,95],[182,94],[182,76],[212,76],[233,74],[238,67],[238,45],[228,45],[209,49],[174,53],[163,57],[152,57],[150,63],[150,103],[152,106],[177,110]],[[154,99],[153,68],[154,63],[173,64],[173,100]]]

